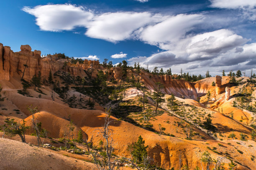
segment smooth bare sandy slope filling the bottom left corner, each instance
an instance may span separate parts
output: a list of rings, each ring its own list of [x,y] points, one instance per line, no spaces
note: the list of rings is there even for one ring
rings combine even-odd
[[[94,170],[95,165],[51,150],[0,138],[0,170]]]

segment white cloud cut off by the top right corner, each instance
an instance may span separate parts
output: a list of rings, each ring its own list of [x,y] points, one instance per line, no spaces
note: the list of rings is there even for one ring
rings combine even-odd
[[[211,0],[212,7],[237,9],[244,7],[256,7],[255,0]]]

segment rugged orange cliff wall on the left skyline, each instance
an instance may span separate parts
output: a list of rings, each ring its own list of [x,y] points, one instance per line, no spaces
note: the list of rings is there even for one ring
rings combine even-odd
[[[41,57],[41,51],[31,51],[29,45],[21,45],[20,52],[13,52],[10,47],[3,46],[0,43],[0,79],[10,80],[13,74],[18,74],[23,79],[29,81],[33,75],[38,74],[41,71],[41,76],[47,79],[49,71],[53,73],[61,70],[64,62],[67,59],[60,59],[54,55],[48,55],[47,57]],[[98,61],[92,61],[95,64],[95,68],[100,67]],[[63,69],[62,69],[63,70]],[[67,72],[71,75],[84,77],[87,76],[83,68],[76,67],[76,65],[67,66]]]

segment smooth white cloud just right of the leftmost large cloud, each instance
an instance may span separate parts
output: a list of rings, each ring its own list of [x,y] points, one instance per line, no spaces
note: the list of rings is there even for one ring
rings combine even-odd
[[[88,37],[99,38],[110,42],[117,42],[131,37],[132,33],[139,28],[161,21],[160,15],[152,15],[148,12],[118,12],[104,13],[96,16],[87,25]]]

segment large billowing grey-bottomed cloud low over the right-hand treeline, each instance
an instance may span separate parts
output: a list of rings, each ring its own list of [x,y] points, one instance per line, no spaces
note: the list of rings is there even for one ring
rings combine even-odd
[[[229,61],[229,57],[224,57],[227,59],[223,60],[224,62],[217,59],[218,56],[226,56],[229,52],[234,55],[245,51],[243,44],[246,42],[247,40],[240,35],[236,35],[230,30],[221,29],[195,36],[188,35],[176,42],[175,47],[169,46],[170,50],[168,51],[159,52],[150,57],[133,57],[128,61],[130,61],[129,65],[140,61],[143,67],[146,67],[148,63],[151,70],[155,66],[163,67],[165,70],[169,67],[179,67],[178,70],[183,67],[201,72],[203,68],[218,67],[222,65],[221,63],[236,65],[239,61],[244,62],[243,56],[240,56],[241,60],[234,61]],[[217,64],[213,65],[215,60]],[[254,61],[251,60],[251,62]],[[176,71],[179,72],[178,70]]]

